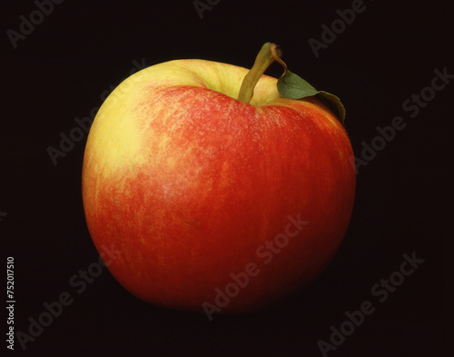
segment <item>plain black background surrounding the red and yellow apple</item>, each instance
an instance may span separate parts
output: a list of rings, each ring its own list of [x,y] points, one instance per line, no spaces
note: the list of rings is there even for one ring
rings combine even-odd
[[[441,356],[445,335],[445,247],[449,202],[447,166],[454,83],[410,118],[402,103],[447,66],[452,47],[448,5],[366,0],[366,10],[316,58],[308,40],[338,18],[350,1],[232,2],[203,12],[180,2],[94,2],[54,5],[14,49],[6,31],[19,31],[32,1],[2,9],[0,234],[2,260],[15,257],[15,331],[69,292],[74,302],[26,351],[2,355],[70,356],[321,356],[344,312],[364,301],[376,311],[330,356]],[[445,2],[444,4],[448,4]],[[3,5],[5,6],[5,5]],[[217,316],[169,311],[134,298],[106,270],[75,293],[70,278],[97,260],[81,197],[84,140],[54,165],[74,118],[102,104],[101,94],[133,68],[202,58],[251,67],[263,43],[281,45],[292,72],[341,97],[357,157],[364,141],[394,116],[407,126],[357,176],[350,228],[340,252],[309,288],[262,312]],[[274,64],[267,74],[279,76]],[[453,81],[454,82],[454,81]],[[7,214],[6,214],[7,213]],[[446,224],[446,225],[445,225]],[[400,269],[402,254],[424,259],[386,302],[371,287]],[[2,299],[5,299],[2,298]],[[2,333],[7,325],[2,322]],[[4,334],[5,336],[5,334]],[[6,350],[6,351],[5,351]]]

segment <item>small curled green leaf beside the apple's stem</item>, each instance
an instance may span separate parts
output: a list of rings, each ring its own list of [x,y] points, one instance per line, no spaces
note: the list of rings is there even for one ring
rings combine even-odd
[[[332,113],[336,114],[342,125],[345,122],[345,108],[341,103],[341,99],[334,94],[318,91],[298,74],[287,71],[287,74],[279,78],[278,92],[284,98],[289,99],[301,99],[308,96],[315,96],[323,104],[327,105]]]

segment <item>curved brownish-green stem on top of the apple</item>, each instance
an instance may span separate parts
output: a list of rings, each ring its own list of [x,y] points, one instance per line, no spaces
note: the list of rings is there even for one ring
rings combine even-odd
[[[279,62],[284,67],[284,74],[287,73],[287,65],[281,60],[281,55],[282,51],[278,45],[271,44],[271,42],[267,42],[265,45],[262,45],[262,49],[260,50],[259,55],[255,58],[255,62],[252,65],[251,70],[242,80],[238,100],[247,104],[251,102],[255,85],[259,82],[262,74],[265,73],[273,62]]]

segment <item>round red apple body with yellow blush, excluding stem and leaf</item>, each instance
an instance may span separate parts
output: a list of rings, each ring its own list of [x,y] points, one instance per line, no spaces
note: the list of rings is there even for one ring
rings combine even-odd
[[[282,98],[267,75],[250,104],[235,99],[247,72],[156,64],[115,88],[94,119],[86,222],[102,257],[121,252],[108,264],[114,278],[145,302],[203,311],[254,263],[260,273],[220,310],[261,308],[316,278],[347,231],[356,174],[342,124],[316,99]],[[289,216],[308,224],[271,246]]]

